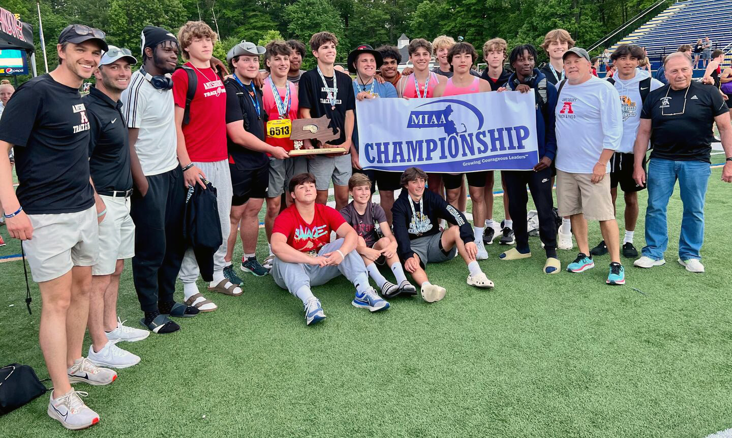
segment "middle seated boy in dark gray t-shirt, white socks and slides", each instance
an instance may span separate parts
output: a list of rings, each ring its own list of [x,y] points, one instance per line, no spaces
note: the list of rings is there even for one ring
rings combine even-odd
[[[356,252],[361,254],[369,275],[381,290],[381,295],[384,298],[395,297],[401,292],[417,295],[417,288],[407,281],[399,262],[397,239],[386,221],[384,208],[370,201],[370,179],[363,173],[354,173],[348,180],[348,193],[353,200],[340,210],[340,214],[358,233]],[[376,229],[377,224],[381,233]],[[384,263],[388,263],[392,269],[398,286],[387,281],[378,271],[378,265]]]

